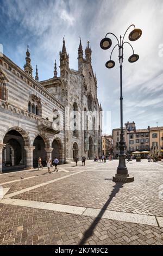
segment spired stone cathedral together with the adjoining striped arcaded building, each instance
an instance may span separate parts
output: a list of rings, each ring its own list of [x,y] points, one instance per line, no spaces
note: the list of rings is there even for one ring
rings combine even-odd
[[[97,99],[97,79],[87,42],[85,58],[80,39],[78,70],[69,67],[65,39],[51,78],[35,78],[29,47],[24,70],[0,55],[0,173],[37,167],[42,159],[59,163],[87,160],[102,154],[102,107]]]

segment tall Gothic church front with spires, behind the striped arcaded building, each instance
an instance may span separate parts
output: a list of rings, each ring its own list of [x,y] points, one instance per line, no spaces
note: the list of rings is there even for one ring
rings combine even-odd
[[[65,106],[65,152],[66,159],[83,155],[93,159],[101,155],[102,108],[97,99],[97,80],[91,65],[89,42],[83,58],[80,40],[78,48],[78,71],[69,68],[69,56],[65,40],[60,52],[60,77],[56,64],[54,77],[40,84],[57,97]]]

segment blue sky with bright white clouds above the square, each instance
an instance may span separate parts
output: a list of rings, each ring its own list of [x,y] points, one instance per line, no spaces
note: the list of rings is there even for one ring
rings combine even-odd
[[[112,54],[116,65],[106,69],[109,50],[99,43],[106,33],[119,38],[134,24],[142,30],[139,40],[130,42],[140,58],[129,63],[132,50],[124,45],[123,123],[135,121],[136,128],[163,126],[163,1],[162,0],[0,0],[0,44],[3,52],[23,69],[27,45],[35,76],[53,77],[54,59],[59,66],[59,51],[65,36],[70,68],[78,70],[79,36],[83,50],[90,41],[92,67],[97,77],[97,95],[109,124],[103,133],[120,127],[120,65],[118,52]],[[58,75],[59,68],[58,68]]]

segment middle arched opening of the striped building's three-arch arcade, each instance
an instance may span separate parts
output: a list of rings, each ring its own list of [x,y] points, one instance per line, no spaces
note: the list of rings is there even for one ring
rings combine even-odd
[[[35,138],[33,145],[35,147],[35,149],[33,151],[33,167],[34,168],[37,167],[39,157],[41,157],[42,165],[46,166],[47,153],[45,151],[46,144],[45,144],[44,139],[40,135],[38,135]]]

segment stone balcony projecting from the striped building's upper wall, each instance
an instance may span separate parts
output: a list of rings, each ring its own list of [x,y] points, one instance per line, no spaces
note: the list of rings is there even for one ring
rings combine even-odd
[[[40,131],[49,132],[53,134],[57,134],[61,131],[60,125],[57,125],[54,122],[51,122],[43,118],[38,120],[37,125],[38,125],[38,130]]]

